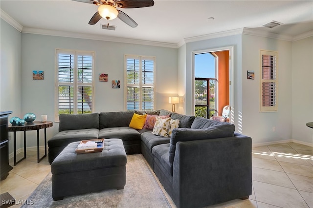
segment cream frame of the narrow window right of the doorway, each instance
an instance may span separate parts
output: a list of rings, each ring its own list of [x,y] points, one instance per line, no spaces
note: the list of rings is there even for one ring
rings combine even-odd
[[[267,65],[266,67],[273,67],[273,75],[272,79],[263,79],[263,55],[274,56],[275,60],[273,65]],[[271,76],[271,75],[269,75]],[[271,101],[274,105],[264,106],[263,103],[267,103],[265,100],[265,96],[263,95],[264,87],[263,83],[271,83],[274,84],[273,90],[274,92],[270,92],[269,94],[273,95],[273,101]],[[270,97],[268,95],[267,97]],[[277,51],[269,51],[269,50],[260,50],[260,112],[277,112],[278,111],[278,52]]]

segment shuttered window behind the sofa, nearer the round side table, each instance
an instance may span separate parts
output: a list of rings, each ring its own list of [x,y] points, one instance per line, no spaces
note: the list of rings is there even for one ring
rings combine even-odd
[[[93,52],[56,49],[56,110],[59,114],[93,112]]]

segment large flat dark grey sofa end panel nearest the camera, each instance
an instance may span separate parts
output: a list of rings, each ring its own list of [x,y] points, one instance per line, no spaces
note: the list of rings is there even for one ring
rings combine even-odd
[[[178,142],[173,163],[173,201],[204,207],[252,193],[251,138]]]

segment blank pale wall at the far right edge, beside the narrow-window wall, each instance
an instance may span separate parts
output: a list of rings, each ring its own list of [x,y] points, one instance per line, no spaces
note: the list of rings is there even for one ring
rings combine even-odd
[[[313,37],[292,42],[292,139],[313,144]]]

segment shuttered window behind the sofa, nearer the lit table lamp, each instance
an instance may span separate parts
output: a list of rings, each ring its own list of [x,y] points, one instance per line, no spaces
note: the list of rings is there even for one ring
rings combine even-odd
[[[155,57],[125,55],[125,109],[153,110]]]

